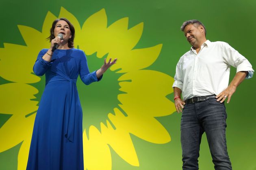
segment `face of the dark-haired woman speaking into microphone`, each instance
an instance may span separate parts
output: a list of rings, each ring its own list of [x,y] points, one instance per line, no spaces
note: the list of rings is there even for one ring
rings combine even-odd
[[[71,38],[71,31],[69,29],[69,25],[64,20],[59,20],[54,28],[54,36],[58,36],[58,34],[63,34],[63,40],[67,41],[69,38]]]

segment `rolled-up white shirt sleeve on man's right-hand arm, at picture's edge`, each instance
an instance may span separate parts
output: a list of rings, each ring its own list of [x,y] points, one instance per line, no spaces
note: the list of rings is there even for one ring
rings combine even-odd
[[[236,72],[248,71],[246,79],[252,78],[254,70],[252,64],[238,51],[232,48],[228,43],[223,43],[223,59],[226,64],[236,68]]]

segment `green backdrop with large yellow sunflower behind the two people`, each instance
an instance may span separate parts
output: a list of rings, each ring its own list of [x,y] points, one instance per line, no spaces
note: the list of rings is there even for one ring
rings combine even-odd
[[[229,43],[254,67],[255,16],[254,0],[2,0],[0,169],[26,167],[44,89],[44,77],[31,72],[39,50],[50,45],[45,38],[54,17],[74,23],[76,48],[85,51],[91,71],[104,57],[118,58],[101,82],[77,83],[85,168],[178,170],[181,115],[174,112],[171,85],[179,58],[190,48],[180,26],[189,19],[202,21],[207,39]],[[235,72],[232,68],[230,79]],[[254,78],[245,80],[226,104],[234,170],[256,170],[255,85]],[[202,170],[214,169],[205,134],[199,165]]]

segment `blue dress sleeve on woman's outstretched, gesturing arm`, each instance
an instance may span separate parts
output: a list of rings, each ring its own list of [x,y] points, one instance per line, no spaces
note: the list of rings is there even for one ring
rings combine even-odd
[[[100,81],[102,79],[102,76],[98,79],[96,75],[96,71],[89,72],[87,59],[85,56],[85,53],[82,52],[81,54],[81,60],[80,60],[80,69],[79,69],[79,75],[83,83],[86,85],[89,85],[95,81]]]

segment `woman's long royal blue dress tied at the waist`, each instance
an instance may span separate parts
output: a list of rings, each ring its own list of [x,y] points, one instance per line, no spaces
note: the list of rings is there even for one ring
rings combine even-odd
[[[86,85],[99,81],[89,72],[85,53],[79,49],[56,49],[46,62],[43,49],[33,67],[46,75],[33,129],[27,170],[83,170],[82,107],[76,88],[78,74]]]

